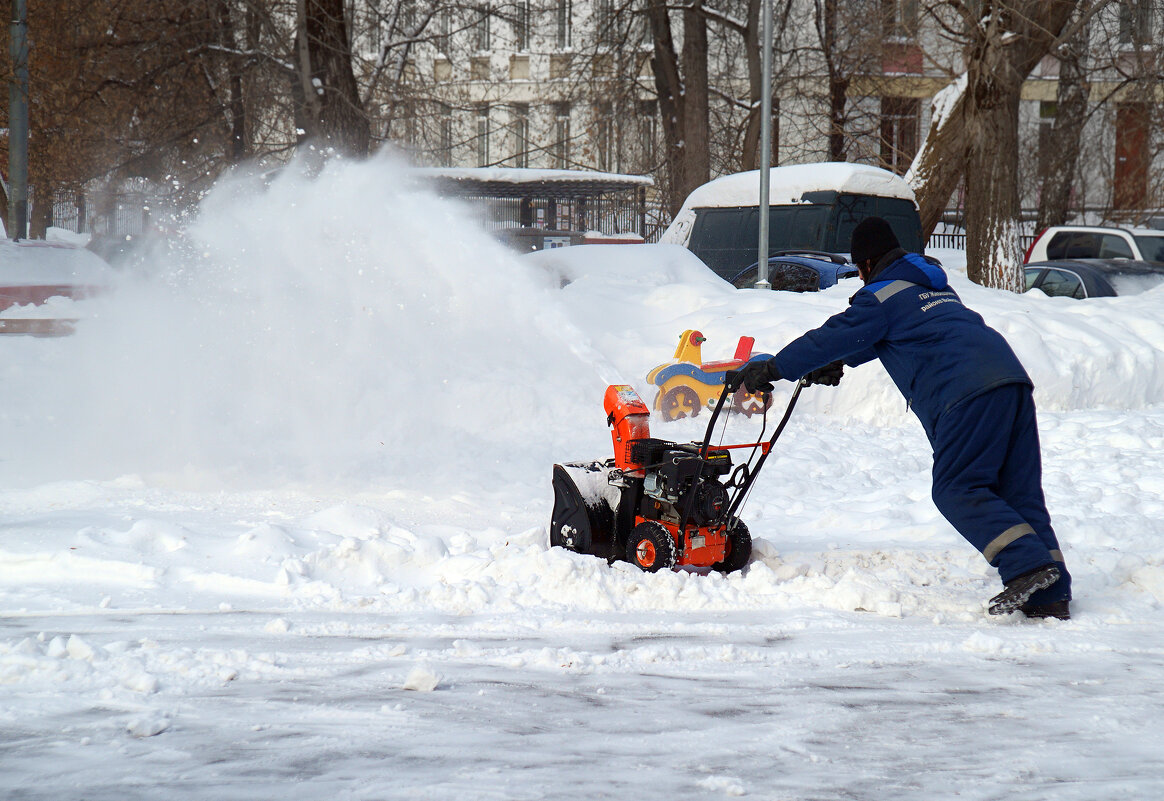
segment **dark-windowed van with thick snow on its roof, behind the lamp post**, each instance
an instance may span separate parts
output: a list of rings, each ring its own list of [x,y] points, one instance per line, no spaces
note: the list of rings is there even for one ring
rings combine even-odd
[[[876,166],[828,162],[772,168],[768,251],[849,255],[849,239],[867,217],[885,218],[901,247],[921,253],[922,224],[914,190]],[[691,192],[660,242],[682,244],[724,278],[755,264],[760,171],[737,172]]]

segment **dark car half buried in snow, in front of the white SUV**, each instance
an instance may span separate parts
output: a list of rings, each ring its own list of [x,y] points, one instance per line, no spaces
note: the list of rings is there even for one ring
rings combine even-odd
[[[1038,289],[1056,298],[1110,298],[1164,284],[1164,264],[1124,258],[1064,258],[1027,264],[1024,278],[1024,292]]]

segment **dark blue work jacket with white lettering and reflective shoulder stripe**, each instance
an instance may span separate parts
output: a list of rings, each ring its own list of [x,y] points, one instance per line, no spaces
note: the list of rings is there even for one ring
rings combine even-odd
[[[847,310],[790,342],[773,363],[795,381],[838,360],[856,367],[880,359],[932,440],[938,419],[958,404],[1031,381],[1002,334],[963,305],[939,265],[901,253]]]

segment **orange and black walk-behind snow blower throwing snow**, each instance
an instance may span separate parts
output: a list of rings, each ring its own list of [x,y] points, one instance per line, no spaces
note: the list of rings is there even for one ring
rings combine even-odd
[[[711,445],[730,384],[702,442],[653,439],[651,411],[638,392],[625,384],[608,387],[603,405],[615,458],[554,465],[549,544],[611,562],[625,559],[650,572],[683,565],[723,573],[743,568],[752,537],[737,517],[739,506],[805,384],[797,382],[771,439],[764,441],[761,432],[758,442]],[[734,448],[752,451],[732,468]]]

